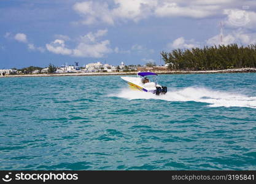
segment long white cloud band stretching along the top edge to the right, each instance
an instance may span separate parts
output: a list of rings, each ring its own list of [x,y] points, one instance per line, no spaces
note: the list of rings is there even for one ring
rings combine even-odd
[[[73,9],[79,13],[86,25],[107,23],[114,25],[116,21],[139,20],[149,17],[191,17],[206,18],[227,16],[225,9],[241,9],[247,5],[252,12],[255,3],[250,0],[112,0],[99,4],[95,1],[76,2]],[[111,5],[111,6],[109,6]],[[253,17],[253,14],[252,16]]]

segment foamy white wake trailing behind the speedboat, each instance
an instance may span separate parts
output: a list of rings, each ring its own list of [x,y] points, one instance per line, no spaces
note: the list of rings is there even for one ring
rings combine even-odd
[[[171,88],[169,88],[171,89]],[[143,91],[122,89],[113,94],[118,98],[133,99],[160,99],[163,101],[195,101],[208,103],[209,107],[249,107],[256,109],[256,96],[249,97],[242,94],[214,91],[206,88],[188,87],[181,90],[168,91],[165,95],[156,96]]]

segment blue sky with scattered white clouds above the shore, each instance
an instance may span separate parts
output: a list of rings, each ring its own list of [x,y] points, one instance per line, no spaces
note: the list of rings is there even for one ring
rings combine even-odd
[[[0,68],[163,64],[160,52],[256,44],[255,0],[0,0]]]

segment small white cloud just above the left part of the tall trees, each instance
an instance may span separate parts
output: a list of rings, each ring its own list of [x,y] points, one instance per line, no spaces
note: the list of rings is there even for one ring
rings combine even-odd
[[[200,47],[198,42],[195,42],[195,40],[185,40],[184,37],[179,37],[173,42],[167,44],[167,48],[174,49],[174,48],[193,48],[193,47]]]

